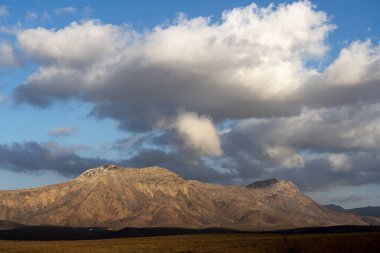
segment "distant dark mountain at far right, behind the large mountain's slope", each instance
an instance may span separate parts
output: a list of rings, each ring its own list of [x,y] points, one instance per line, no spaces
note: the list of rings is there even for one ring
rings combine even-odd
[[[380,206],[367,206],[345,209],[339,205],[328,204],[325,205],[325,207],[338,212],[356,214],[360,216],[362,220],[368,223],[369,225],[380,225]]]

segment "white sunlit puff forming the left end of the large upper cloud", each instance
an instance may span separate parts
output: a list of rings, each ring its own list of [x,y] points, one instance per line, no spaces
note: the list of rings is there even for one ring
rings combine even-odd
[[[105,56],[114,56],[125,43],[122,28],[98,21],[71,23],[61,30],[36,28],[17,35],[19,46],[47,65],[88,67]]]

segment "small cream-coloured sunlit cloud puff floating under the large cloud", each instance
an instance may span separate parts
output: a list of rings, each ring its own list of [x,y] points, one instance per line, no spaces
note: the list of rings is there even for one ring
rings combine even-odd
[[[178,116],[174,127],[186,147],[200,155],[222,155],[219,134],[210,118],[186,112]]]

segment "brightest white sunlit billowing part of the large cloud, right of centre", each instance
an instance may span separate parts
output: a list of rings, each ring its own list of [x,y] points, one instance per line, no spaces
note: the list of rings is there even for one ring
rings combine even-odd
[[[251,4],[225,11],[220,24],[182,16],[177,25],[157,27],[145,50],[150,62],[207,70],[215,81],[282,99],[313,73],[303,60],[326,52],[324,39],[334,28],[326,22],[326,14],[315,12],[309,2],[277,9]]]

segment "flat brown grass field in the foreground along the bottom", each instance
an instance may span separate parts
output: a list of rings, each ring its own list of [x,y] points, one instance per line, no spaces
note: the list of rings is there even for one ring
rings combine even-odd
[[[380,252],[380,233],[205,234],[91,241],[0,241],[0,252]]]

